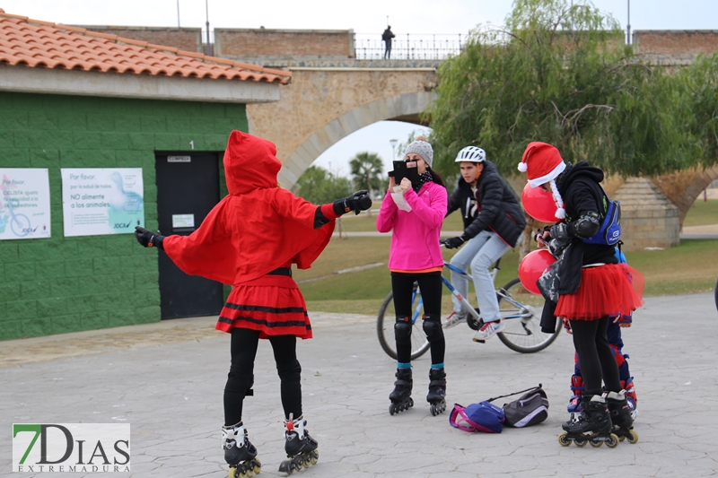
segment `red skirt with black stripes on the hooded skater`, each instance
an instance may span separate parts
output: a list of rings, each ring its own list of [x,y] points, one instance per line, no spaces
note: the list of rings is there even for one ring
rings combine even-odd
[[[287,275],[264,275],[237,284],[220,312],[215,329],[258,330],[259,338],[294,335],[311,339],[307,305],[297,283]]]

